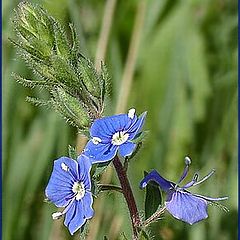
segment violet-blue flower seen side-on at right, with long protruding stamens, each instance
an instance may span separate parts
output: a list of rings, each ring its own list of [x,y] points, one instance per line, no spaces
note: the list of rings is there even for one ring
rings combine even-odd
[[[168,212],[175,218],[192,225],[208,217],[207,206],[209,203],[218,204],[217,201],[226,200],[228,197],[211,198],[193,194],[186,190],[207,180],[213,175],[215,172],[214,170],[199,181],[198,174],[195,174],[192,181],[188,182],[183,187],[179,187],[179,184],[187,176],[190,163],[190,158],[186,157],[185,169],[177,183],[166,180],[160,176],[156,170],[153,170],[141,181],[140,187],[146,187],[149,181],[154,181],[159,184],[160,188],[167,194],[165,207]]]

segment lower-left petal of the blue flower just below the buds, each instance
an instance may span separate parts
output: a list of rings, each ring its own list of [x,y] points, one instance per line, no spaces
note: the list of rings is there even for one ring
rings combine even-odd
[[[100,163],[111,160],[117,153],[118,146],[109,144],[94,144],[90,140],[84,150],[84,154],[90,158],[92,163]]]

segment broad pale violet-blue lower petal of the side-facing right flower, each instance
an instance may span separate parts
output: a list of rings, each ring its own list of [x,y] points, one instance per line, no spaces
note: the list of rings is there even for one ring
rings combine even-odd
[[[189,192],[171,192],[166,208],[175,218],[191,225],[208,217],[207,201]]]

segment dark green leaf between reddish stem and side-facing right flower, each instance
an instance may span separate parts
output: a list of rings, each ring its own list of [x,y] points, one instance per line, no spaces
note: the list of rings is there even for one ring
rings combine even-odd
[[[144,177],[148,174],[148,172],[144,171]],[[158,209],[158,207],[162,203],[162,195],[159,189],[159,186],[150,181],[146,186],[146,196],[145,196],[145,219],[152,216]]]

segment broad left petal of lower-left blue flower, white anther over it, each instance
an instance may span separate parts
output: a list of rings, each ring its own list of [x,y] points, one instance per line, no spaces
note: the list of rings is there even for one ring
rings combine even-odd
[[[64,170],[63,166],[67,167],[68,170]],[[57,207],[66,206],[72,198],[72,185],[78,175],[77,168],[77,162],[71,158],[61,157],[54,161],[53,172],[45,189],[45,194]]]

